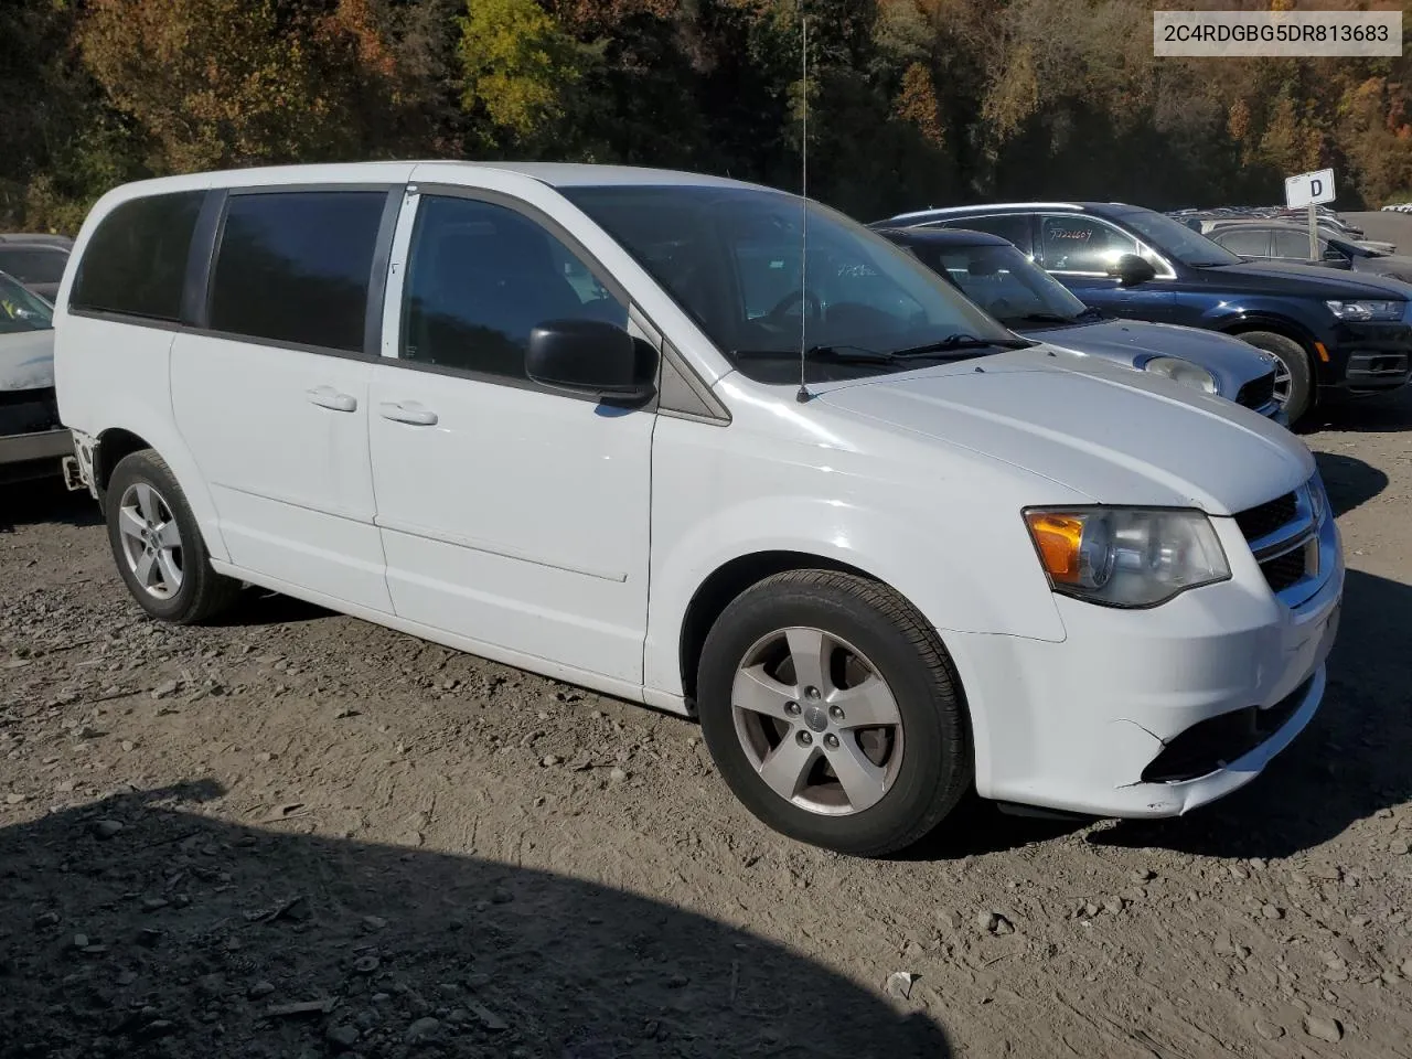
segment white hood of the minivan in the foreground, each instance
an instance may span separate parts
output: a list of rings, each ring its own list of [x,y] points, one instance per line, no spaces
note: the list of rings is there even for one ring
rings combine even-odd
[[[1056,363],[1075,359],[1035,346],[842,383],[816,400],[1021,467],[1099,504],[1230,515],[1315,473],[1303,442],[1231,401],[1147,373]],[[1039,493],[1034,503],[1051,497]]]

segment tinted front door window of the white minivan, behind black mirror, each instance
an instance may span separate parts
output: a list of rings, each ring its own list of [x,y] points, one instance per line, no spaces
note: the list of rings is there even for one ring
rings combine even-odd
[[[627,326],[627,306],[539,225],[505,206],[422,198],[402,294],[402,357],[525,378],[546,321]]]

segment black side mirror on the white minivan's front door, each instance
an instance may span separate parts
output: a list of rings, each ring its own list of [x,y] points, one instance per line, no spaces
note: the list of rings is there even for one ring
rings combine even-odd
[[[603,321],[545,321],[530,332],[525,374],[555,390],[604,401],[652,395],[651,366],[623,328]]]

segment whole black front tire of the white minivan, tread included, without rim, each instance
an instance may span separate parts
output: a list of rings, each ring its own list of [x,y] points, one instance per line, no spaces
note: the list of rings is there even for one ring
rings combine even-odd
[[[846,641],[866,655],[863,661],[891,692],[901,720],[901,755],[885,794],[867,808],[826,815],[777,794],[761,778],[751,757],[762,760],[762,755],[758,750],[747,750],[747,740],[737,730],[733,703],[737,669],[747,661],[747,652],[772,634],[794,627]],[[823,657],[837,661],[836,652],[826,651]],[[966,706],[940,638],[907,600],[866,578],[832,570],[789,570],[741,593],[717,618],[702,648],[698,710],[706,746],[736,796],[770,827],[813,846],[858,857],[897,853],[932,832],[971,788],[974,760]],[[741,716],[760,720],[760,714],[744,710]],[[795,717],[789,734],[778,736],[777,748],[788,738],[802,740],[808,717],[808,710]],[[822,733],[813,727],[815,720],[818,710],[808,727]],[[788,720],[771,719],[768,723],[785,729]],[[819,738],[816,754],[825,754],[827,736]],[[840,736],[833,738],[829,753],[836,754]],[[853,738],[854,746],[861,744],[857,736]]]

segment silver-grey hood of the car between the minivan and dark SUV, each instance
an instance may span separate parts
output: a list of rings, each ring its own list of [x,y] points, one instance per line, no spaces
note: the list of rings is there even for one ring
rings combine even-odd
[[[1127,367],[1156,356],[1182,357],[1216,376],[1221,395],[1231,398],[1245,383],[1274,370],[1274,361],[1247,342],[1175,323],[1100,321],[1052,330],[1027,328],[1021,333],[1058,349],[1103,357]]]

